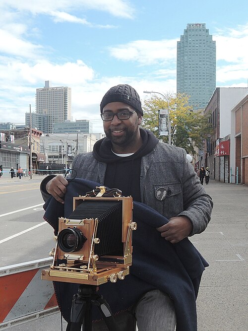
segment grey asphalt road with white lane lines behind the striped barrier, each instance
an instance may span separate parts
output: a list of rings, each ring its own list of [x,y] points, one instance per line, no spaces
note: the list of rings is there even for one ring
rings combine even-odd
[[[47,258],[54,247],[53,229],[43,219],[43,178],[1,178],[0,266]]]

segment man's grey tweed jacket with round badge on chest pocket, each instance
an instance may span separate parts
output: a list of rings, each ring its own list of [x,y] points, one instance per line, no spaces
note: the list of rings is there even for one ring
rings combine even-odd
[[[92,152],[77,155],[72,164],[77,178],[102,185],[106,168],[107,164],[98,162]],[[156,198],[159,188],[167,192],[163,200]],[[193,225],[190,235],[204,231],[210,221],[212,199],[201,186],[193,166],[186,160],[183,148],[158,142],[153,151],[141,158],[140,193],[141,202],[168,219],[187,216]],[[46,200],[48,196],[44,191],[42,195]]]

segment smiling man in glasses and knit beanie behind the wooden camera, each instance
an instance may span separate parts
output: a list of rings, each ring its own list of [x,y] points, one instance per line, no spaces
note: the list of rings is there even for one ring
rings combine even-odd
[[[139,128],[143,110],[135,89],[112,87],[100,110],[106,137],[95,143],[93,152],[76,157],[72,169],[77,177],[118,188],[124,196],[131,195],[167,217],[169,223],[157,231],[171,244],[204,231],[210,220],[211,198],[200,186],[185,150],[162,143],[152,132]],[[44,199],[52,195],[63,203],[67,185],[60,175],[48,176],[41,184]],[[140,331],[175,329],[174,303],[160,290],[145,293],[132,312]],[[117,316],[123,330],[135,330],[128,322],[130,317],[128,313]],[[93,330],[107,329],[96,323]]]

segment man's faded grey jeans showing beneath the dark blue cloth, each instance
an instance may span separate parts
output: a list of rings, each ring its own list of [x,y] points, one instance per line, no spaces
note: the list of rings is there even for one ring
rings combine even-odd
[[[115,316],[122,331],[174,331],[176,313],[173,301],[160,290],[152,290],[142,296],[133,313],[126,311]],[[104,321],[93,323],[92,331],[109,331]]]

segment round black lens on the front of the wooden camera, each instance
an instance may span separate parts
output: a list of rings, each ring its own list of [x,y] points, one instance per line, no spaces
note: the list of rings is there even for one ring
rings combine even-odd
[[[63,229],[58,235],[58,245],[65,253],[77,252],[82,247],[87,238],[77,228]]]

